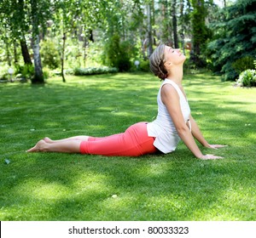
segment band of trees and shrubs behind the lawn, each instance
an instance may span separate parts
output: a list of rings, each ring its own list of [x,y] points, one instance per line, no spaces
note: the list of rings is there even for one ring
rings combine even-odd
[[[166,42],[183,49],[189,69],[207,68],[235,81],[254,68],[256,1],[223,3],[221,8],[213,0],[2,0],[0,78],[44,83],[61,75],[66,82],[68,73],[102,73],[102,67],[148,71],[149,55]]]

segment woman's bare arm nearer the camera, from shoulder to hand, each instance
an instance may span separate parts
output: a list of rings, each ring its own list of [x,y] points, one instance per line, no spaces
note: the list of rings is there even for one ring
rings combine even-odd
[[[218,159],[222,158],[219,156],[213,155],[203,155],[201,150],[198,148],[197,144],[195,143],[195,139],[192,133],[187,127],[186,123],[183,119],[183,113],[181,111],[180,103],[179,103],[179,96],[175,88],[172,87],[170,84],[166,84],[161,89],[161,99],[163,103],[166,105],[166,108],[172,117],[172,122],[174,123],[177,133],[179,137],[183,140],[184,144],[187,145],[189,150],[197,157],[201,159]],[[195,122],[195,121],[194,121]],[[193,127],[193,125],[192,125]]]

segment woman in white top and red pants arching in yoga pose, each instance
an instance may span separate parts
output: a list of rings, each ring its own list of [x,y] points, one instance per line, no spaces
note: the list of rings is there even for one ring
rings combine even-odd
[[[183,62],[186,57],[179,49],[160,44],[150,56],[150,69],[164,80],[160,86],[158,116],[154,122],[138,122],[125,133],[104,138],[75,136],[72,138],[38,141],[27,152],[66,152],[102,156],[142,156],[157,151],[170,153],[176,149],[180,139],[200,159],[219,159],[220,156],[203,155],[195,143],[218,149],[221,144],[208,144],[190,114],[189,103],[182,86]],[[194,139],[195,138],[195,139]]]

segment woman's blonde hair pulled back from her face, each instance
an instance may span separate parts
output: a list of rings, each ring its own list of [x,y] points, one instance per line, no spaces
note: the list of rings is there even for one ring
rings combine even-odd
[[[165,47],[166,45],[161,43],[157,48],[154,49],[153,54],[151,54],[149,57],[150,70],[155,76],[162,80],[167,77],[167,71],[164,65]]]

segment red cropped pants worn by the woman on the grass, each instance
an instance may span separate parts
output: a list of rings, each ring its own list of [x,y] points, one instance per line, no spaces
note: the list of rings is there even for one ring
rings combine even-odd
[[[157,151],[153,143],[154,137],[148,136],[147,122],[138,122],[128,127],[125,133],[82,141],[80,152],[102,156],[143,156]]]

